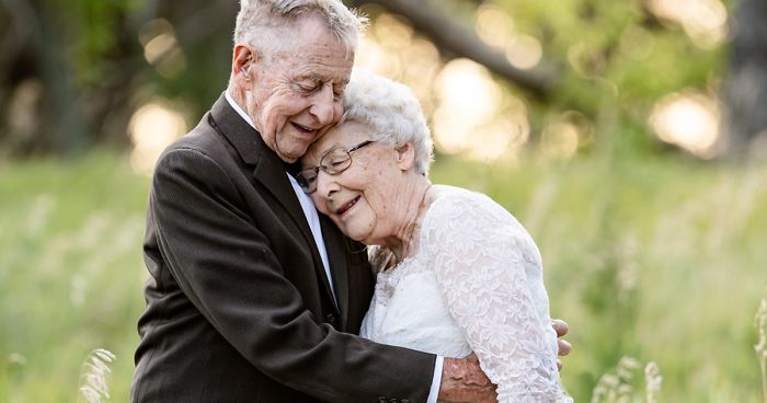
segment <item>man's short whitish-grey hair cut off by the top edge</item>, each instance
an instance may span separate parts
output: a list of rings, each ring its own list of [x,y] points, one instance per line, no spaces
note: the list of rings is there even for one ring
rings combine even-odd
[[[367,19],[340,0],[240,0],[234,25],[234,45],[248,44],[267,56],[296,46],[294,23],[307,15],[320,16],[339,38],[346,55],[354,55]]]

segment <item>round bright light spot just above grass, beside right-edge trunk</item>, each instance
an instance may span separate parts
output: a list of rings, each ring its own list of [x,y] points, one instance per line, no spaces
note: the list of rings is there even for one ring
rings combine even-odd
[[[717,101],[697,93],[674,93],[653,107],[650,125],[657,137],[700,158],[712,158],[720,137]]]

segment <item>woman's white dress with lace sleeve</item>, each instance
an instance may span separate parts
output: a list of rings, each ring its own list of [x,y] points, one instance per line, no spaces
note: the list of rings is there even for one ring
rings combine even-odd
[[[445,357],[474,352],[500,403],[572,402],[540,253],[522,224],[488,196],[439,186],[420,237],[417,254],[379,270],[362,336]]]

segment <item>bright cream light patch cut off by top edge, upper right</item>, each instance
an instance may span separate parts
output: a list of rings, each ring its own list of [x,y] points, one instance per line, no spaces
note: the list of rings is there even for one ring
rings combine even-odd
[[[710,49],[726,38],[728,12],[720,0],[649,0],[650,11],[680,24],[698,47]]]

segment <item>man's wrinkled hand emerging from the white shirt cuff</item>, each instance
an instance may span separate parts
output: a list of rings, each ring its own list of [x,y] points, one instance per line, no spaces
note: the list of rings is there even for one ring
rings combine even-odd
[[[495,403],[497,394],[495,385],[482,372],[479,359],[472,353],[466,358],[445,357],[437,401],[444,403]]]

